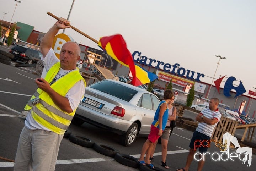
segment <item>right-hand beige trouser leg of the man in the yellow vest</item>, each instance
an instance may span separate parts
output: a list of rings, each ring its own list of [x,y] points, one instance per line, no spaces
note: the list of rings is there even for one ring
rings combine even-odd
[[[54,171],[63,135],[52,131],[36,130],[31,142],[33,170]]]

